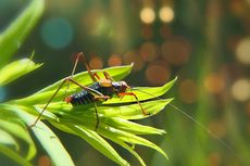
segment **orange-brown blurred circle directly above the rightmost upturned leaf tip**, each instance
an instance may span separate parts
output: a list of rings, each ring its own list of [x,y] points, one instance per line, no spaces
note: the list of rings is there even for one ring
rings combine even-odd
[[[164,85],[170,78],[170,68],[161,62],[151,63],[146,69],[147,80],[154,86]]]

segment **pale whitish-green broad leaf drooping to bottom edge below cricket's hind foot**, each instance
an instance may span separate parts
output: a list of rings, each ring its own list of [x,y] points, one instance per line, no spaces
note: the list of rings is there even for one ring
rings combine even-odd
[[[36,119],[36,117],[14,106],[12,106],[11,110],[14,110],[20,118],[27,125],[33,124]],[[38,122],[35,127],[32,127],[32,130],[57,166],[74,166],[71,156],[49,127]]]

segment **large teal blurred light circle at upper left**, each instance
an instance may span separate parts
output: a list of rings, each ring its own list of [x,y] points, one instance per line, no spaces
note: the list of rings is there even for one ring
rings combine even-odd
[[[40,35],[47,46],[62,49],[71,43],[73,28],[65,18],[51,17],[42,24]]]

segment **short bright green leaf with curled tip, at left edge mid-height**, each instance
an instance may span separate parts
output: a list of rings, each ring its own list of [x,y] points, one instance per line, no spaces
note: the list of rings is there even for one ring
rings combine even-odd
[[[0,69],[0,86],[4,86],[40,66],[41,64],[35,64],[29,59],[12,62]]]

